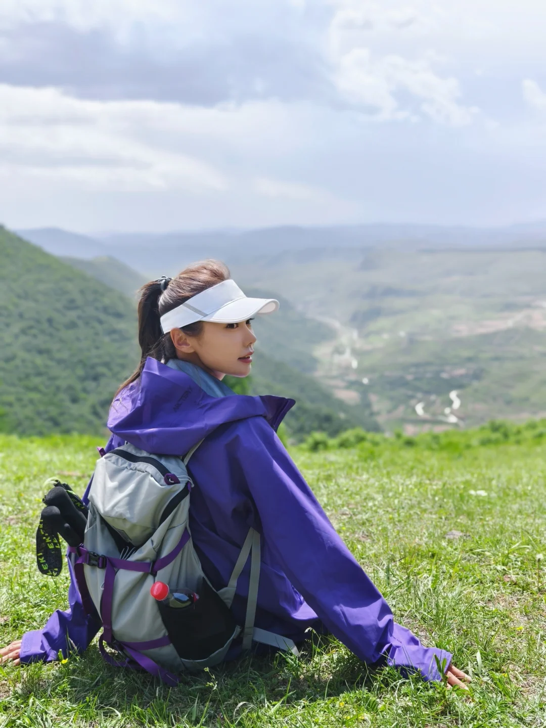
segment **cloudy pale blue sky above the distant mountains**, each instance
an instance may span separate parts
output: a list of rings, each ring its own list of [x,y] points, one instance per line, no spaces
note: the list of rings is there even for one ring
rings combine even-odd
[[[546,218],[544,0],[1,0],[0,221]]]

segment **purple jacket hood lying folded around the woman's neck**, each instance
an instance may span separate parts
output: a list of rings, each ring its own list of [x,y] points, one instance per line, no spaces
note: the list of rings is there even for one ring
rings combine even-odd
[[[183,455],[228,422],[264,417],[277,430],[294,404],[273,395],[212,397],[189,374],[149,358],[112,403],[108,429],[147,452]]]

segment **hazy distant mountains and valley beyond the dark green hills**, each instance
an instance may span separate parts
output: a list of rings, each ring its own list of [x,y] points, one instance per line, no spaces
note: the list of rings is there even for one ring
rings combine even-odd
[[[54,245],[51,230],[27,234]],[[64,232],[61,238],[68,240]],[[71,255],[79,261],[71,264],[105,282],[110,275],[108,285],[124,281],[126,293],[137,279],[222,258],[244,290],[280,296],[282,310],[290,304],[296,317],[279,319],[278,336],[264,329],[262,352],[311,375],[349,407],[350,419],[372,411],[384,430],[415,432],[546,414],[546,223],[75,240]],[[95,243],[116,261],[90,259]],[[132,273],[112,275],[122,264]],[[313,329],[317,324],[323,328]]]

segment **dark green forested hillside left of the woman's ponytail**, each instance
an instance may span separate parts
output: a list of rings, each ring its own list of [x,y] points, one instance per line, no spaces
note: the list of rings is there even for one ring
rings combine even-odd
[[[100,432],[138,360],[126,296],[0,229],[0,430]]]

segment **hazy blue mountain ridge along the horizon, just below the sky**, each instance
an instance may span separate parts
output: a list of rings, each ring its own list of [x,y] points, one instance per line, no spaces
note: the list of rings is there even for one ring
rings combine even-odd
[[[296,252],[375,248],[402,245],[406,250],[427,245],[465,248],[537,247],[546,245],[546,221],[499,228],[471,228],[416,224],[355,226],[280,226],[257,230],[205,232],[110,233],[87,236],[58,228],[17,231],[25,240],[55,256],[95,258],[111,256],[148,277],[173,275],[203,257],[228,258],[240,263],[250,258]]]

